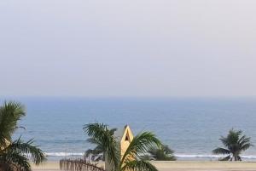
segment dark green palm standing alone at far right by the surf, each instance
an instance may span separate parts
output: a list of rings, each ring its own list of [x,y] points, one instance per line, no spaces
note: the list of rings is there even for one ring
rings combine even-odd
[[[221,161],[241,161],[241,151],[246,151],[250,146],[253,146],[250,143],[250,139],[250,137],[246,137],[244,134],[242,135],[241,130],[236,131],[232,128],[226,137],[221,136],[219,139],[227,148],[218,147],[212,152],[213,154],[228,155],[227,157],[221,158]]]

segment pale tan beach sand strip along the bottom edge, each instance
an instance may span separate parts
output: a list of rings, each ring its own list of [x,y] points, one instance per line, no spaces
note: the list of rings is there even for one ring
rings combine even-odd
[[[160,171],[256,171],[256,162],[153,162]],[[33,171],[55,171],[60,170],[59,162],[45,162],[36,167],[32,165]]]

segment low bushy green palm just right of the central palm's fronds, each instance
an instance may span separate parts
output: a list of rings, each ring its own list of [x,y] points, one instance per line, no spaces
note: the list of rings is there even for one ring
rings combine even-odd
[[[168,145],[162,145],[160,148],[150,148],[148,153],[149,156],[145,156],[149,160],[156,161],[175,161],[176,157],[173,156],[174,151],[169,148]]]

